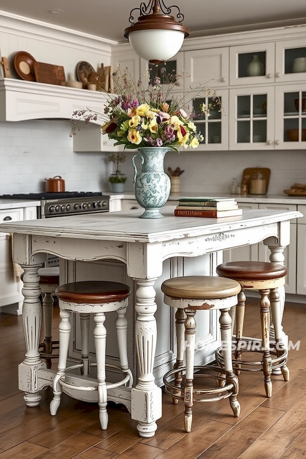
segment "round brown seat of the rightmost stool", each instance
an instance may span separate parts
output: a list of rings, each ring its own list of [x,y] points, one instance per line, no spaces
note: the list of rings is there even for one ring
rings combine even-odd
[[[270,281],[285,277],[287,269],[283,265],[270,262],[238,261],[222,263],[217,266],[217,274],[230,277],[236,281],[250,279],[251,281]]]

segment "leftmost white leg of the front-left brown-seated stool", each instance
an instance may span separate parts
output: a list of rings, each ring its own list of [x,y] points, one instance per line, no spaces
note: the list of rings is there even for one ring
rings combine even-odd
[[[60,316],[62,318],[59,324],[59,364],[56,376],[53,381],[53,399],[50,402],[50,413],[52,416],[56,415],[58,407],[61,403],[62,386],[60,378],[65,375],[67,364],[69,337],[70,337],[70,311],[61,310]]]

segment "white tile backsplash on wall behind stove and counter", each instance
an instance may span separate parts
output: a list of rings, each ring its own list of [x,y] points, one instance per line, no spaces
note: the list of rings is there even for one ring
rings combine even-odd
[[[74,153],[69,120],[0,122],[0,194],[44,190],[44,179],[61,175],[69,191],[109,191],[112,172],[107,153]],[[78,134],[77,134],[78,135]],[[126,151],[121,170],[133,190],[131,158]],[[233,179],[241,181],[246,167],[271,169],[269,193],[282,193],[294,182],[306,183],[305,151],[169,151],[165,170],[180,167],[181,190],[227,193]],[[138,166],[140,167],[140,166]]]

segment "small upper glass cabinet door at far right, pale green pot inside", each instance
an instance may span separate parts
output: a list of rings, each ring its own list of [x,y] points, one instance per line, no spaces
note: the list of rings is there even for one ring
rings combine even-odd
[[[305,81],[306,39],[277,41],[275,44],[276,82]]]

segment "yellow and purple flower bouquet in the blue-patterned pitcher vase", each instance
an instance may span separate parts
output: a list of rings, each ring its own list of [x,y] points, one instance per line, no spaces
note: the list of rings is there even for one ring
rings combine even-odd
[[[127,69],[121,72],[118,68],[116,73],[114,93],[117,95],[108,94],[104,113],[89,109],[73,113],[74,119],[77,117],[86,123],[100,119],[102,134],[115,140],[114,145],[124,145],[125,148],[163,146],[175,150],[180,146],[196,148],[203,136],[196,131],[193,118],[209,116],[213,107],[222,110],[215,91],[205,85],[190,87],[184,97],[172,95],[171,90],[177,81],[186,78],[184,72],[179,75],[165,74],[167,85],[162,85],[159,77],[155,77],[152,84],[149,84],[149,78],[146,85],[141,80],[135,83]],[[213,101],[208,106],[201,104],[200,114],[189,109],[191,100],[197,96],[210,96]],[[77,130],[80,127],[75,122],[70,136]]]

